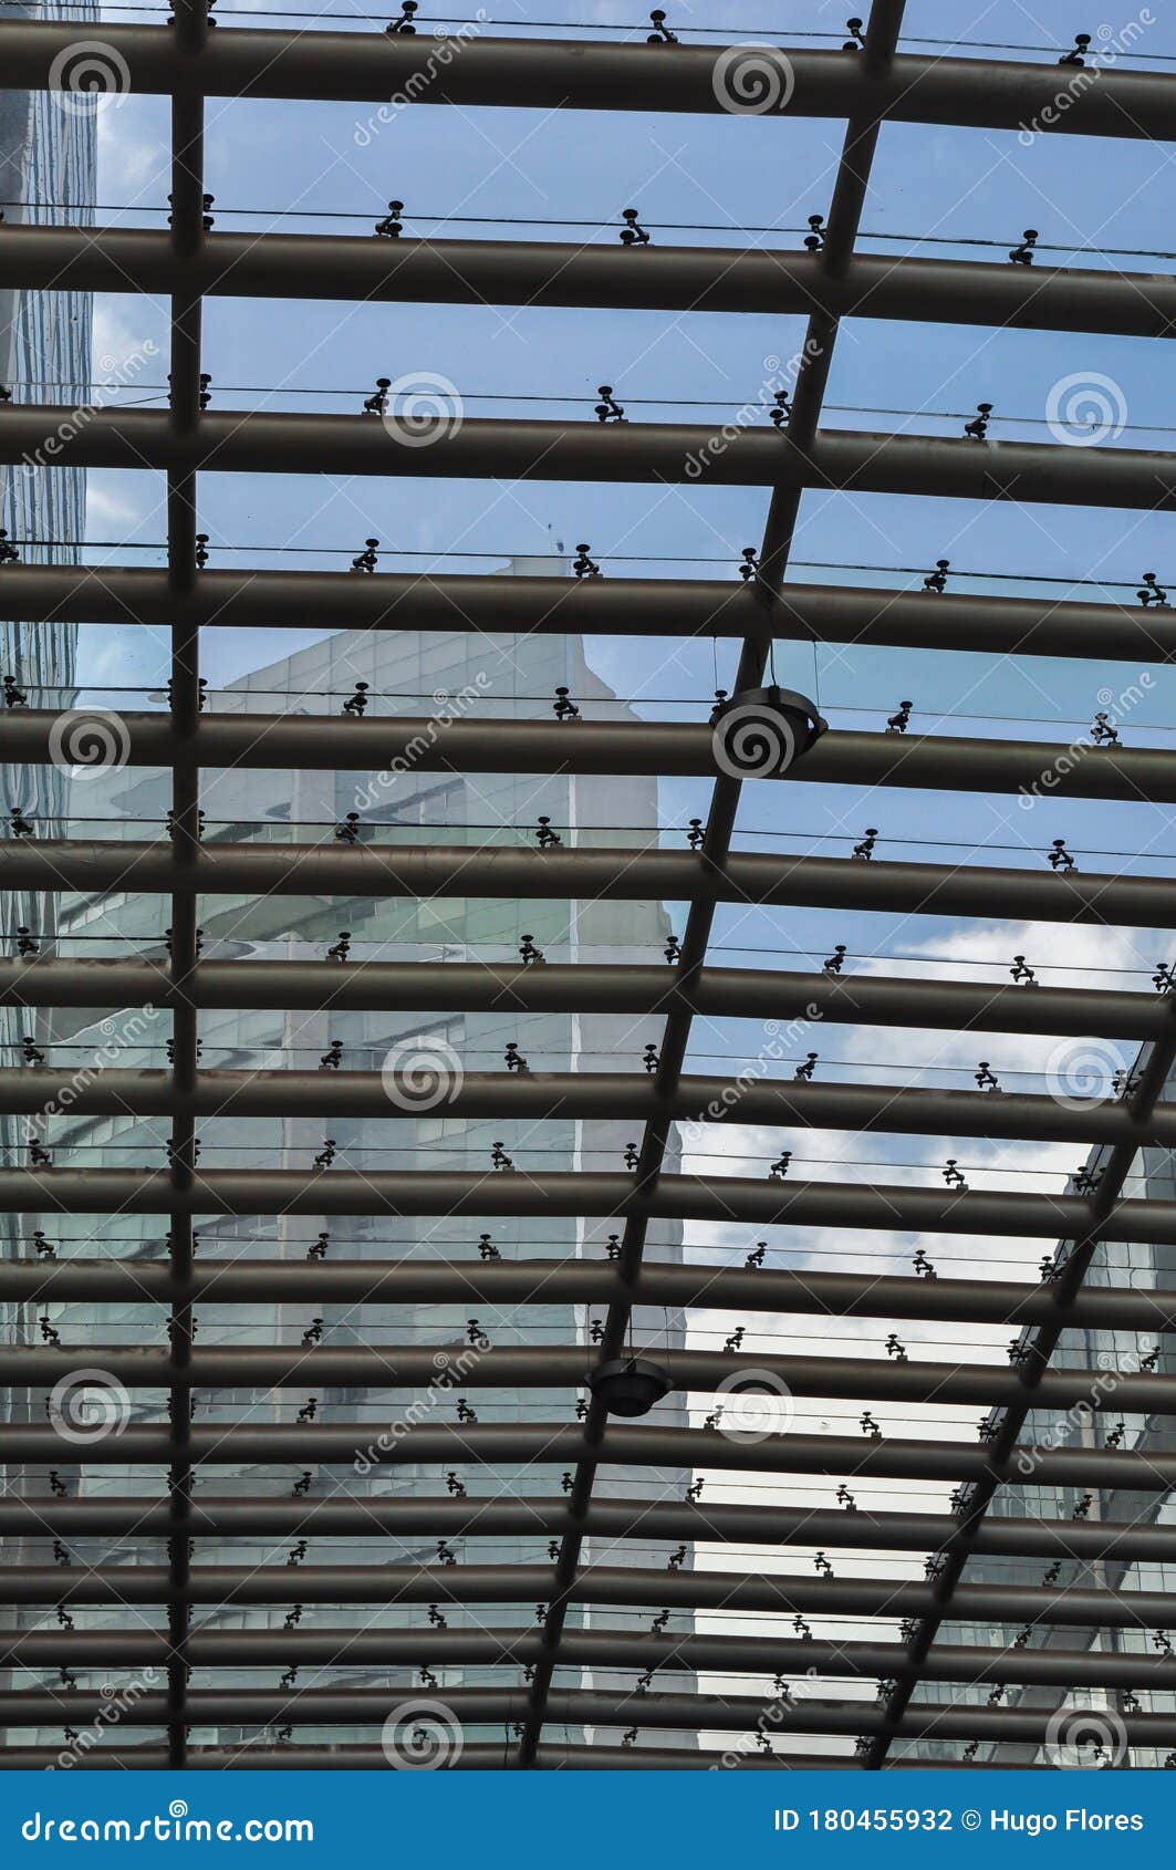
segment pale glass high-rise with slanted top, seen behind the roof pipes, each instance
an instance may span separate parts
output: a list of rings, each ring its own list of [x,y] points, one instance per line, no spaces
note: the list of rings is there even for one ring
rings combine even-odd
[[[529,570],[559,574],[566,567],[563,561],[514,561],[510,567],[518,574]],[[346,699],[355,692],[357,683],[366,683],[372,714],[413,714],[413,716],[469,716],[523,714],[533,718],[552,716],[552,698],[557,686],[566,686],[580,703],[589,703],[593,718],[632,718],[630,711],[615,701],[611,690],[589,668],[583,645],[578,638],[484,638],[469,636],[423,636],[417,632],[340,632],[323,641],[301,649],[290,656],[271,662],[254,673],[232,683],[215,696],[219,712],[308,712],[338,714]],[[576,733],[568,724],[566,733]],[[140,770],[107,774],[99,782],[84,778],[73,787],[71,812],[75,817],[92,813],[112,813],[127,825],[127,836],[151,836],[150,827],[163,832],[165,813],[170,798],[166,776]],[[82,797],[84,795],[84,797]],[[101,802],[97,798],[101,795]],[[641,847],[647,830],[641,827],[658,821],[656,780],[617,780],[617,778],[572,778],[572,776],[509,776],[509,774],[454,774],[437,770],[404,772],[267,772],[267,770],[226,770],[204,776],[202,802],[206,812],[206,842],[297,842],[316,843],[333,840],[335,827],[348,812],[357,810],[363,821],[363,836],[381,843],[421,842],[423,828],[445,843],[469,843],[471,847],[494,842],[518,842],[525,836],[525,827],[550,817],[565,842],[578,843]],[[626,830],[624,827],[630,827]],[[273,959],[307,961],[323,959],[342,931],[350,939],[348,967],[359,969],[370,961],[516,961],[525,937],[542,950],[548,961],[643,961],[660,959],[669,920],[653,903],[520,903],[505,899],[331,899],[271,896],[262,899],[215,898],[200,905],[202,920],[202,959]],[[107,894],[101,899],[69,899],[62,916],[60,950],[80,957],[142,954],[165,961],[161,928],[166,922],[166,903],[159,898],[144,896],[136,890],[125,894]],[[667,969],[669,976],[669,969]],[[200,1015],[202,1068],[204,1070],[277,1070],[280,1066],[295,1070],[316,1070],[338,1047],[344,1070],[381,1072],[389,1055],[456,1057],[469,1072],[503,1070],[509,1043],[535,1072],[593,1072],[610,1068],[638,1068],[647,1042],[660,1042],[662,1021],[658,1017],[619,1017],[619,1015],[574,1015],[574,1014],[516,1014],[509,1006],[495,1012],[479,1012],[454,1017],[428,1014],[387,1014],[387,1012],[342,1012],[342,1014],[292,1014],[258,1010],[206,1010]],[[170,1017],[153,1008],[127,1008],[108,1017],[108,1014],[62,1014],[52,1015],[52,1060],[60,1066],[84,1064],[101,1045],[118,1047],[118,1064],[125,1068],[163,1068],[165,1049],[170,1034]],[[322,1066],[329,1070],[329,1066]],[[56,1120],[54,1159],[105,1165],[163,1165],[166,1150],[168,1122],[148,1118],[88,1118],[73,1116]],[[333,1118],[327,1126],[314,1115],[288,1118],[211,1118],[200,1124],[200,1169],[249,1169],[273,1163],[279,1169],[305,1169],[325,1143],[325,1129],[338,1150],[340,1167],[351,1171],[381,1169],[490,1169],[490,1152],[501,1144],[516,1161],[520,1171],[572,1171],[598,1169],[619,1171],[626,1146],[639,1143],[641,1128],[636,1122],[572,1120],[544,1122],[540,1126],[514,1122],[512,1118],[469,1120],[451,1116],[445,1103],[421,1113],[406,1115],[389,1101],[387,1116],[380,1118]],[[677,1144],[669,1154],[671,1169],[677,1165]],[[376,1208],[378,1202],[374,1201]],[[28,1219],[26,1219],[28,1225]],[[52,1245],[58,1255],[73,1251],[107,1251],[114,1257],[165,1257],[166,1221],[155,1216],[110,1216],[110,1217],[52,1217],[43,1223],[52,1230]],[[503,1219],[466,1223],[445,1219],[430,1221],[413,1216],[372,1214],[372,1216],[221,1216],[198,1223],[198,1259],[307,1259],[314,1251],[325,1257],[346,1260],[372,1259],[380,1262],[400,1257],[473,1260],[482,1253],[479,1236],[488,1232],[490,1245],[503,1259],[568,1259],[593,1257],[604,1260],[608,1255],[608,1236],[621,1227],[619,1221],[583,1221],[563,1217]],[[325,1242],[320,1244],[320,1236]],[[24,1251],[30,1251],[28,1245]],[[656,1259],[681,1257],[681,1225],[667,1221],[651,1223],[649,1255]],[[600,1307],[602,1311],[604,1307]],[[512,1313],[510,1309],[492,1313],[484,1305],[454,1307],[389,1307],[389,1305],[331,1305],[331,1303],[258,1303],[252,1307],[232,1305],[217,1309],[215,1300],[198,1307],[198,1348],[217,1345],[290,1345],[305,1343],[308,1330],[322,1328],[322,1343],[333,1348],[346,1345],[424,1345],[460,1346],[467,1343],[471,1313],[479,1315],[479,1328],[490,1337],[494,1346],[523,1345],[568,1345],[585,1346],[585,1371],[593,1352],[593,1316],[583,1307],[563,1303],[529,1305]],[[316,1326],[318,1320],[318,1326]],[[36,1326],[36,1320],[30,1320]],[[52,1307],[52,1328],[60,1331],[64,1343],[159,1343],[165,1331],[165,1316],[150,1303],[131,1303],[122,1307],[60,1305]],[[682,1343],[682,1318],[662,1309],[638,1309],[634,1315],[634,1343],[651,1345],[656,1350],[673,1348]],[[307,1356],[305,1389],[286,1388],[280,1391],[198,1391],[196,1421],[249,1421],[294,1423],[299,1410],[312,1408],[316,1421],[359,1421],[363,1436],[351,1464],[333,1464],[323,1468],[305,1468],[292,1464],[286,1479],[267,1470],[230,1468],[219,1470],[217,1477],[202,1475],[202,1492],[217,1492],[236,1498],[290,1496],[301,1487],[310,1502],[323,1498],[378,1498],[385,1496],[437,1496],[447,1490],[447,1472],[437,1466],[419,1466],[398,1460],[396,1464],[372,1464],[365,1459],[365,1446],[376,1440],[389,1425],[406,1417],[411,1395],[406,1391],[368,1391],[323,1388],[314,1380],[312,1352]],[[135,1391],[131,1397],[135,1421],[166,1419],[166,1399],[163,1393]],[[467,1419],[458,1414],[462,1408],[475,1408],[480,1421],[574,1421],[578,1393],[568,1389],[477,1389],[477,1371],[469,1374],[469,1395],[462,1386],[441,1388],[430,1397],[430,1419],[445,1423]],[[30,1408],[43,1406],[43,1397],[30,1399]],[[413,1419],[413,1417],[409,1417]],[[684,1397],[660,1404],[658,1419],[684,1425]],[[64,1457],[69,1449],[64,1447]],[[596,1483],[596,1494],[608,1498],[677,1498],[681,1500],[690,1481],[688,1474],[647,1470],[643,1475],[610,1481],[606,1468]],[[144,1496],[159,1500],[163,1496],[165,1475],[161,1472],[127,1472],[120,1466],[82,1466],[69,1468],[64,1459],[58,1468],[58,1483],[69,1492],[84,1489],[86,1494],[99,1492],[118,1496]],[[460,1485],[471,1502],[495,1496],[538,1496],[559,1494],[561,1474],[552,1466],[538,1466],[533,1472],[505,1472],[501,1468],[479,1468],[475,1464],[460,1472]],[[548,1537],[466,1537],[452,1541],[456,1558],[462,1563],[550,1563]],[[277,1546],[269,1541],[234,1541],[232,1546],[209,1548],[198,1541],[194,1550],[196,1565],[232,1563],[252,1567],[273,1563],[294,1548],[295,1541],[282,1541]],[[370,1535],[355,1539],[310,1541],[305,1563],[351,1563],[376,1565],[391,1563],[437,1563],[439,1541],[396,1539],[381,1533],[376,1526]],[[585,1552],[585,1561],[608,1565],[654,1565],[667,1563],[673,1545],[641,1545],[638,1539],[619,1541],[615,1548],[593,1548]],[[129,1541],[118,1548],[103,1541],[86,1541],[71,1546],[71,1558],[80,1565],[135,1565],[159,1563],[161,1548],[157,1541]],[[50,1543],[37,1539],[22,1554],[26,1563],[50,1561]],[[196,1621],[202,1629],[280,1629],[297,1603],[297,1571],[290,1573],[290,1604],[275,1606],[236,1606],[217,1610],[200,1608]],[[163,1610],[140,1606],[140,1614],[153,1627],[161,1627]],[[451,1629],[454,1627],[535,1627],[535,1604],[516,1604],[507,1608],[492,1606],[445,1606]],[[75,1610],[77,1627],[99,1629],[116,1623],[120,1610]],[[41,1625],[52,1619],[52,1608],[26,1612],[24,1627]],[[370,1627],[419,1627],[424,1612],[421,1606],[387,1604],[355,1606],[344,1621]],[[568,1618],[570,1627],[591,1627],[595,1612],[587,1606],[574,1606]],[[338,1610],[314,1604],[299,1612],[299,1627],[314,1629],[316,1621],[327,1627],[338,1623]],[[626,1618],[617,1610],[604,1612],[610,1627]],[[634,1623],[634,1627],[638,1627]],[[669,1631],[692,1627],[690,1614],[675,1612]],[[441,1668],[434,1664],[432,1676],[437,1679],[432,1694],[443,1698],[445,1689],[494,1687],[501,1685],[501,1674],[477,1668]],[[234,1674],[236,1685],[279,1687],[277,1679],[265,1679],[264,1672],[249,1670]],[[681,1687],[690,1687],[688,1679],[677,1677]],[[97,1677],[88,1679],[93,1687]],[[303,1670],[297,1687],[333,1685],[348,1687],[387,1687],[389,1705],[404,1700],[408,1692],[419,1689],[415,1670],[387,1670],[357,1666],[353,1670]],[[193,1687],[226,1685],[224,1672],[215,1676],[200,1674],[193,1677]],[[583,1670],[561,1670],[555,1687],[623,1687],[632,1689],[626,1677],[589,1679]],[[666,1672],[666,1685],[669,1672]],[[639,1702],[634,1704],[634,1724],[639,1720]],[[273,1741],[280,1728],[265,1737]],[[610,1730],[598,1737],[619,1741],[623,1730]],[[219,1728],[194,1732],[196,1745],[247,1745],[258,1737],[258,1730]],[[308,1743],[338,1741],[338,1730],[297,1730],[297,1737]],[[355,1735],[359,1737],[359,1735]],[[495,1735],[486,1733],[492,1739]],[[563,1737],[555,1726],[555,1737]],[[583,1739],[581,1732],[568,1733],[568,1739]],[[17,1735],[13,1735],[17,1739]],[[56,1735],[22,1735],[22,1741],[54,1745]],[[344,1735],[346,1739],[346,1735]],[[123,1735],[122,1745],[127,1737]],[[658,1745],[696,1745],[694,1735],[658,1737]]]

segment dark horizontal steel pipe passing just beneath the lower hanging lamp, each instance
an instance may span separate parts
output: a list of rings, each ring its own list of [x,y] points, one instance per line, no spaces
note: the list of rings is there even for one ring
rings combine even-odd
[[[1146,1236],[1137,1236],[1146,1238]],[[6,1431],[4,1446],[11,1462],[45,1466],[71,1460],[84,1466],[157,1466],[168,1459],[165,1429],[131,1427],[84,1447],[64,1442],[56,1429],[17,1423]],[[193,1460],[204,1466],[265,1462],[280,1466],[344,1464],[365,1472],[400,1462],[436,1462],[445,1468],[471,1466],[550,1466],[570,1468],[585,1455],[578,1425],[546,1421],[525,1429],[497,1423],[432,1423],[408,1427],[402,1436],[381,1432],[376,1423],[217,1423],[193,1429]],[[604,1434],[593,1459],[621,1468],[731,1468],[744,1474],[836,1474],[858,1479],[967,1481],[993,1470],[983,1444],[869,1440],[862,1436],[752,1436],[714,1434],[705,1429],[613,1427]],[[1133,1489],[1154,1494],[1176,1485],[1176,1453],[1135,1453],[1124,1449],[1051,1447],[1013,1449],[997,1464],[998,1479],[1010,1487],[1032,1483],[1049,1487]],[[699,1513],[699,1530],[705,1513]],[[703,1533],[705,1535],[705,1533]],[[288,1575],[286,1575],[288,1576]],[[301,1580],[303,1573],[299,1573]],[[58,1578],[58,1588],[62,1580]]]

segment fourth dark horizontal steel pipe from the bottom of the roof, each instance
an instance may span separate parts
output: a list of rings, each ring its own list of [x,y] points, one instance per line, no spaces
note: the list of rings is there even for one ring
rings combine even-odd
[[[181,1599],[191,1604],[512,1604],[550,1603],[553,1565],[194,1565]],[[0,1567],[4,1604],[165,1604],[172,1599],[163,1565],[79,1567],[77,1582],[54,1567]],[[731,1614],[901,1618],[925,1616],[933,1584],[896,1578],[787,1578],[724,1571],[641,1571],[591,1567],[568,1586],[568,1601]],[[954,1612],[972,1623],[1163,1629],[1176,1608],[1170,1591],[1111,1591],[1068,1586],[1015,1588],[957,1584]],[[1176,1670],[1170,1681],[1176,1683]]]

